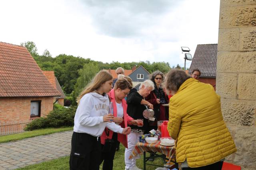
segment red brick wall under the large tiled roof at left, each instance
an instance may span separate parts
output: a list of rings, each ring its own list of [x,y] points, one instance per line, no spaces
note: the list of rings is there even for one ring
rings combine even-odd
[[[41,117],[53,109],[53,97],[0,98],[0,126],[29,122],[31,100],[41,100]]]

